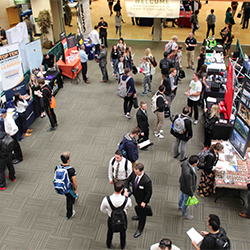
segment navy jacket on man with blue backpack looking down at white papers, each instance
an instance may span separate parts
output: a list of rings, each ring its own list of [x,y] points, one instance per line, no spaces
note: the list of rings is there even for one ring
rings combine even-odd
[[[126,134],[123,136],[124,149],[127,154],[127,159],[131,162],[135,162],[139,158],[138,148],[136,139],[131,137],[130,134]]]

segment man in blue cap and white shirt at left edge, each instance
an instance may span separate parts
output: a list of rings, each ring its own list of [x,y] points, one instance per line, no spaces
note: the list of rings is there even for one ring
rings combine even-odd
[[[6,109],[0,109],[0,116],[4,120],[4,130],[9,134],[15,142],[14,153],[12,154],[12,163],[17,164],[23,160],[23,154],[18,142],[18,127],[13,116],[10,113],[7,113]]]

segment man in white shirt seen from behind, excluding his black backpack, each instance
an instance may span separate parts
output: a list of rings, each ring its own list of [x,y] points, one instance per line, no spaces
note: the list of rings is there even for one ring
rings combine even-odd
[[[131,202],[131,199],[129,197],[125,197],[121,194],[123,192],[123,187],[124,187],[123,182],[118,181],[116,183],[116,185],[114,185],[115,192],[108,197],[110,199],[111,204],[115,208],[118,208],[118,207],[124,205],[123,210],[125,213],[125,224],[127,224],[127,209],[129,207],[132,207],[132,202]],[[107,197],[103,198],[102,204],[100,206],[100,210],[103,213],[108,214],[108,216],[109,216],[106,245],[108,248],[110,248],[111,243],[112,243],[112,238],[113,238],[113,230],[112,230],[112,224],[111,224],[112,209],[111,209],[111,205],[110,205]],[[127,226],[125,226],[125,227],[127,227]],[[121,249],[124,249],[126,246],[126,229],[120,231],[120,244],[121,244]]]

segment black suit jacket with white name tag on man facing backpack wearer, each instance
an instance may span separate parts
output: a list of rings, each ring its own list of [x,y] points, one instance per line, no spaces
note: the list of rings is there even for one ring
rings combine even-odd
[[[149,203],[152,196],[152,182],[150,178],[144,173],[135,189],[136,174],[133,171],[125,182],[125,188],[129,190],[129,184],[132,183],[132,193],[135,197],[136,203],[140,205],[142,202]]]

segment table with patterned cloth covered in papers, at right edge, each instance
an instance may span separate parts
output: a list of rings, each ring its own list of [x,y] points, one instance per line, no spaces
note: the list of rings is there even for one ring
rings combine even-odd
[[[213,141],[212,143],[215,143],[218,141]],[[250,168],[249,168],[249,156],[250,153],[246,153],[246,160],[243,161],[238,156],[238,154],[233,150],[233,148],[230,146],[230,144],[226,141],[221,142],[224,146],[224,157],[225,160],[224,163],[228,164],[228,167],[223,167],[223,171],[217,171],[215,172],[215,182],[214,182],[214,193],[216,191],[216,188],[224,188],[225,191],[221,196],[216,197],[216,202],[219,198],[226,195],[226,193],[229,191],[229,189],[235,189],[237,190],[238,194],[236,197],[242,200],[243,206],[245,204],[245,201],[240,196],[240,192],[242,190],[247,190],[247,179],[250,175]],[[222,155],[220,154],[220,158]],[[218,161],[216,166],[221,166],[223,163],[221,161]]]

